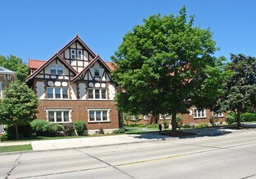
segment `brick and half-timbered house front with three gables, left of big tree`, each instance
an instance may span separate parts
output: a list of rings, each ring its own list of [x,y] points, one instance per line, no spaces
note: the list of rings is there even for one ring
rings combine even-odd
[[[61,124],[84,120],[88,133],[118,129],[112,69],[79,36],[47,61],[29,59],[26,83],[39,99],[36,117]]]

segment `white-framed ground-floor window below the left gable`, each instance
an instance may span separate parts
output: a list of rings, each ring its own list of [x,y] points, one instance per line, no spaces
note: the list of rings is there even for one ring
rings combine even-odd
[[[67,123],[70,122],[70,110],[47,110],[47,117],[49,122]]]

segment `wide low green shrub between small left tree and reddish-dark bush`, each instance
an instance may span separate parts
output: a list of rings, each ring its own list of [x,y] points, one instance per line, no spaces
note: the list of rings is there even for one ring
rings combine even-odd
[[[61,124],[52,124],[46,120],[33,120],[31,127],[37,136],[54,137],[59,136],[63,131]]]

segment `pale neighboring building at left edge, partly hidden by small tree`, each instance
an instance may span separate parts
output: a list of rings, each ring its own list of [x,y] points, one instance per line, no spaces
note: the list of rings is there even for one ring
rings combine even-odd
[[[3,97],[3,89],[11,83],[11,81],[16,81],[16,72],[12,72],[7,68],[0,67],[0,98]],[[0,124],[0,133],[3,132],[3,125]]]

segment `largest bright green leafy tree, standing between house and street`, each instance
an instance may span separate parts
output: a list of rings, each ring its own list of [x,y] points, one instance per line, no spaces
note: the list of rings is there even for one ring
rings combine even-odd
[[[214,67],[215,41],[209,29],[194,27],[194,15],[151,15],[123,37],[115,55],[115,81],[125,93],[117,94],[120,111],[132,114],[172,114],[176,130],[177,113],[198,104],[193,100]],[[206,100],[206,98],[204,98]],[[204,105],[206,106],[206,105]]]

